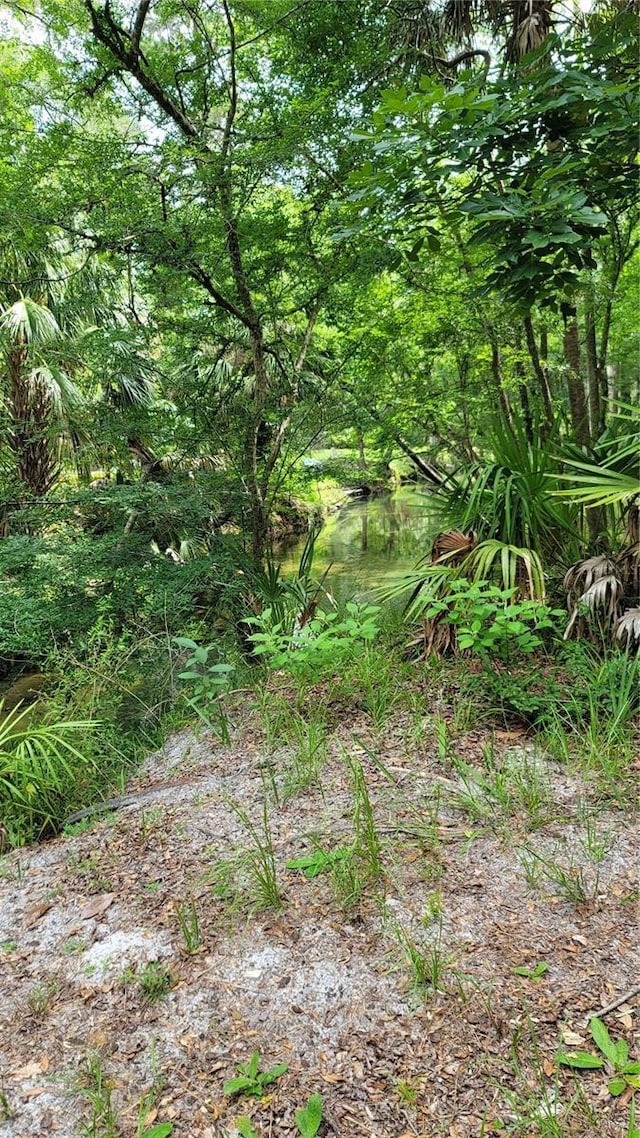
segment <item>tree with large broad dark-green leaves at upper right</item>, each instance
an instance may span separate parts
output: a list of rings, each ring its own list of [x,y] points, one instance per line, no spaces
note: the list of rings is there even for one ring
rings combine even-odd
[[[552,397],[533,321],[536,310],[561,313],[566,390],[581,444],[604,423],[613,298],[634,248],[634,42],[637,22],[621,6],[568,42],[547,35],[502,77],[467,73],[449,88],[425,77],[415,93],[389,91],[368,135],[377,156],[353,180],[358,207],[383,224],[400,214],[418,239],[416,251],[437,246],[446,229],[459,240],[466,271],[468,248],[490,258],[487,288],[520,322],[547,431]],[[605,294],[599,347],[596,278]],[[586,315],[589,393],[579,303]],[[489,325],[486,333],[497,354]]]

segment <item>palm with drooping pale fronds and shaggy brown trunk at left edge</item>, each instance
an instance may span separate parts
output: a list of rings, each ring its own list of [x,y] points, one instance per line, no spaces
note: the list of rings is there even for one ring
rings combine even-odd
[[[50,240],[26,253],[0,242],[0,469],[15,496],[40,498],[59,475],[63,440],[83,442],[77,374],[92,363],[99,398],[121,412],[149,405],[150,365],[104,263]]]

